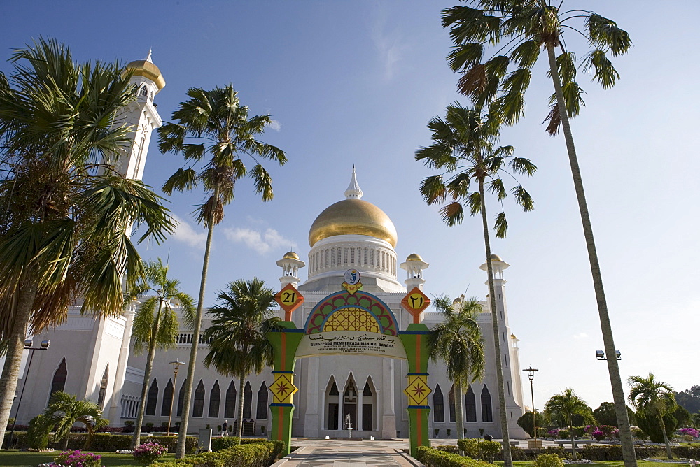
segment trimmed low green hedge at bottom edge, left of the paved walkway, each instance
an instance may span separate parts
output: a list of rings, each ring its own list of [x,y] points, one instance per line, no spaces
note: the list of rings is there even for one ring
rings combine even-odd
[[[267,467],[279,454],[279,442],[264,441],[229,447],[217,452],[204,452],[177,461],[159,462],[159,467]]]

